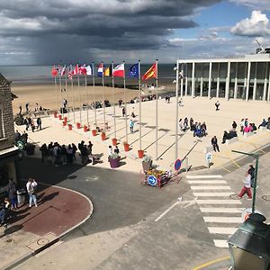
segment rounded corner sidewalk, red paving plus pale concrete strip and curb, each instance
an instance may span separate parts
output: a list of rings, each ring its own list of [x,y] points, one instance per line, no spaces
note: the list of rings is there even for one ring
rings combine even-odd
[[[11,269],[87,220],[92,202],[80,193],[39,184],[38,207],[25,202],[0,228],[0,269]]]

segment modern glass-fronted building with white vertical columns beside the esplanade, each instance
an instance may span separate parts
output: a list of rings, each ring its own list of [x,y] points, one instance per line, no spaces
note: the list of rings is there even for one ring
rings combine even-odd
[[[225,99],[270,100],[270,54],[245,58],[179,59],[179,94]]]

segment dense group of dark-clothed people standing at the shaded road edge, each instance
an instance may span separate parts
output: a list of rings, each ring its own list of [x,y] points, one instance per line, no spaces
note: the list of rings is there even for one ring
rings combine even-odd
[[[53,143],[51,141],[48,146],[46,143],[43,143],[40,147],[41,161],[47,164],[50,158],[54,166],[72,164],[76,160],[76,151],[78,149],[82,164],[85,165],[89,162],[89,157],[92,157],[92,148],[93,143],[88,141],[86,145],[84,140],[78,143],[77,147],[74,143],[59,145],[58,142]]]

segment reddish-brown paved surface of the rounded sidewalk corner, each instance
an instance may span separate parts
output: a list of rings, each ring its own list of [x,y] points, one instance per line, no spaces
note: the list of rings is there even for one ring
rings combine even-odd
[[[12,225],[37,235],[53,232],[56,236],[85,220],[92,211],[88,200],[72,191],[56,186],[39,185],[38,207],[23,205]]]

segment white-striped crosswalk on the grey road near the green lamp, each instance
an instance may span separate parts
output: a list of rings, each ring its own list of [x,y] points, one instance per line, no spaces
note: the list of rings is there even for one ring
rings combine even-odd
[[[232,200],[233,192],[222,175],[186,175],[204,222],[216,247],[228,247],[228,238],[242,222],[242,202]]]

